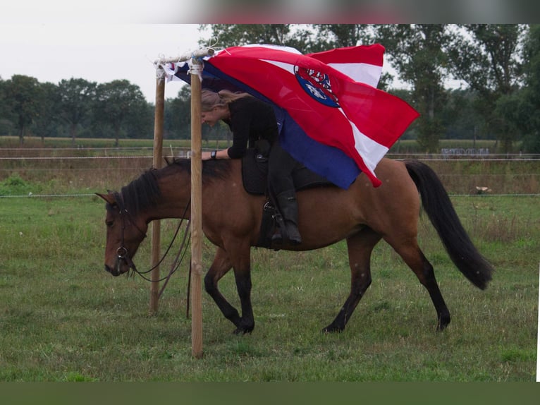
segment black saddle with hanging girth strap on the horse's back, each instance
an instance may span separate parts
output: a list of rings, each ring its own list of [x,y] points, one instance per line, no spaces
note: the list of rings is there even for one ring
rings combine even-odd
[[[252,195],[266,195],[266,203],[262,208],[262,222],[259,232],[258,247],[271,248],[271,237],[281,219],[277,208],[271,202],[267,187],[268,158],[259,154],[256,149],[247,150],[242,159],[242,181],[245,191]],[[333,186],[333,183],[323,176],[307,169],[298,163],[292,173],[295,190],[305,190],[314,187]],[[281,219],[282,220],[282,219]],[[278,250],[277,248],[275,250]]]

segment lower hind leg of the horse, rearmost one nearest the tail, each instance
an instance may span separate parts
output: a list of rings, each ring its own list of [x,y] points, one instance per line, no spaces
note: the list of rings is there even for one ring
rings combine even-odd
[[[444,330],[450,323],[450,311],[444,302],[441,290],[438,288],[433,266],[418,247],[416,238],[402,243],[387,241],[415,272],[419,282],[426,287],[437,312],[437,329]]]

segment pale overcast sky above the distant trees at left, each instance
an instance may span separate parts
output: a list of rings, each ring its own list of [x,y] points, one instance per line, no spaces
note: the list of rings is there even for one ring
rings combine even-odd
[[[155,101],[160,56],[180,56],[199,49],[203,33],[197,24],[31,23],[0,25],[0,77],[13,74],[58,84],[83,78],[97,83],[127,79]],[[165,86],[176,97],[182,82]]]

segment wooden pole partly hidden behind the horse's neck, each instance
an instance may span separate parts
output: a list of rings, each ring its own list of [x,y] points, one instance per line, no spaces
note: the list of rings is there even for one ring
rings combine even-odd
[[[163,154],[163,122],[164,122],[164,106],[165,106],[165,73],[163,68],[156,69],[156,108],[154,112],[154,160],[152,166],[155,169],[161,167]],[[160,259],[160,244],[161,244],[161,223],[152,221],[152,270],[150,279],[150,313],[157,313],[159,303],[159,266],[157,263]]]

